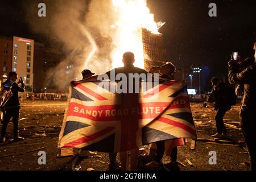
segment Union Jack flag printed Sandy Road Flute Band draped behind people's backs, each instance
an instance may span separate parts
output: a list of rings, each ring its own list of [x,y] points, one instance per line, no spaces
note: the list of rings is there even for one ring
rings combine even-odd
[[[99,83],[70,86],[59,148],[119,152],[160,140],[196,139],[185,82],[149,89],[142,82],[139,94],[113,93]]]

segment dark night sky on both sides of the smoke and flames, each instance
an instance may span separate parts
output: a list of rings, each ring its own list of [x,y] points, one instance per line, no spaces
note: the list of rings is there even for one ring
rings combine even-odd
[[[23,9],[26,2],[1,0],[0,35],[46,43],[44,36],[30,32],[24,20],[30,18]],[[217,17],[208,16],[211,2],[217,5]],[[232,51],[245,57],[254,55],[256,1],[148,0],[148,7],[156,21],[166,22],[160,32],[168,59],[177,65],[207,65],[210,75],[218,76],[226,72]]]

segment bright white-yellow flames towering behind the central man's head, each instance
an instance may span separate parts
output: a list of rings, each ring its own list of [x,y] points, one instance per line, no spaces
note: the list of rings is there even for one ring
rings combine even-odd
[[[112,0],[117,20],[110,25],[115,31],[113,37],[112,68],[121,67],[122,54],[131,51],[135,55],[135,66],[144,68],[142,28],[159,34],[150,14],[146,0]]]

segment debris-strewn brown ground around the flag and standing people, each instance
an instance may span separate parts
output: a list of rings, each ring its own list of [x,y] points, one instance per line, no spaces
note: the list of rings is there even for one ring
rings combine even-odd
[[[7,140],[0,144],[0,170],[71,170],[72,157],[59,158],[57,140],[64,117],[65,101],[22,101],[19,132],[26,139],[10,142],[13,135],[13,123],[7,128]],[[203,107],[203,103],[191,103],[193,119],[196,123],[198,138],[213,139],[215,133],[213,107]],[[196,141],[195,150],[191,150],[191,139],[185,146],[178,147],[178,160],[185,163],[188,159],[193,166],[179,165],[181,171],[226,171],[249,170],[244,164],[248,154],[238,118],[239,105],[233,106],[224,119],[229,142],[213,140]],[[238,143],[239,142],[239,143]],[[38,164],[38,151],[46,151],[46,165]],[[209,151],[217,152],[217,164],[209,164]],[[109,170],[108,154],[97,152],[93,158],[81,162],[81,170],[93,168],[97,171]]]

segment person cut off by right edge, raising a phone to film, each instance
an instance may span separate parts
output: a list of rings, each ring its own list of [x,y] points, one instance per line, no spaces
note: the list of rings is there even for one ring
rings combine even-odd
[[[250,156],[251,171],[256,170],[256,42],[254,49],[254,64],[241,70],[241,64],[236,57],[231,56],[229,61],[229,82],[230,84],[243,85],[243,99],[240,109],[241,127],[243,137]]]

